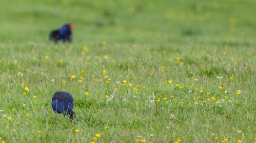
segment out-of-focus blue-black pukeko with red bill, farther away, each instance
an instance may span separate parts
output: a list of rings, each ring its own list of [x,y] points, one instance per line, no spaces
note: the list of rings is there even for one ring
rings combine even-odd
[[[55,43],[62,41],[62,42],[72,42],[72,29],[73,24],[64,24],[58,30],[52,30],[50,33],[50,41]]]

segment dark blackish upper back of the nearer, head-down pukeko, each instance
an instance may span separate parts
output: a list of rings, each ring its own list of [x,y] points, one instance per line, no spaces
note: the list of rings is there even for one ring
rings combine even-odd
[[[72,95],[64,91],[58,91],[54,93],[52,101],[53,100],[58,100],[63,102],[74,102]]]

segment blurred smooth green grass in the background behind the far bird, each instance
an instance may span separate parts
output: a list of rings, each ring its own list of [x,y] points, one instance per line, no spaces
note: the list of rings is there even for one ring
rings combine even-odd
[[[74,24],[74,43],[255,43],[255,0],[0,0],[0,43],[48,42]]]

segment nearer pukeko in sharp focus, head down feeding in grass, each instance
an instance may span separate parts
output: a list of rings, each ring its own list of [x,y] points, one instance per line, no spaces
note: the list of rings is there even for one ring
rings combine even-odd
[[[63,113],[64,116],[68,115],[71,120],[76,116],[75,112],[72,111],[74,107],[74,99],[71,94],[58,91],[54,93],[52,98],[53,111],[57,113]]]

